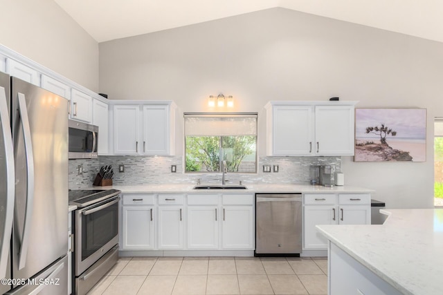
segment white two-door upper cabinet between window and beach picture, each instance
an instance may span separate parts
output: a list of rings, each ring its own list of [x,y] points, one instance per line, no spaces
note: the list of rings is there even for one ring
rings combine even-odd
[[[354,155],[356,102],[270,102],[268,155]]]

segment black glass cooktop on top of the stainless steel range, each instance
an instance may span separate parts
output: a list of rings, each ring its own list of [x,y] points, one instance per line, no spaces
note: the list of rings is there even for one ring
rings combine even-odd
[[[107,198],[117,196],[118,189],[73,189],[69,191],[69,204],[79,208],[87,207]]]

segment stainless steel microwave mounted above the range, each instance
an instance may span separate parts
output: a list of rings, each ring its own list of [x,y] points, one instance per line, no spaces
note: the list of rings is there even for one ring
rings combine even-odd
[[[97,158],[98,126],[69,120],[69,159]]]

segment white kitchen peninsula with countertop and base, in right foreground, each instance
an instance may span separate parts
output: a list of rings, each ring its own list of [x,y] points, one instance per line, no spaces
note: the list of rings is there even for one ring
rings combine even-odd
[[[383,225],[317,226],[329,240],[328,294],[443,294],[443,209],[381,213]]]

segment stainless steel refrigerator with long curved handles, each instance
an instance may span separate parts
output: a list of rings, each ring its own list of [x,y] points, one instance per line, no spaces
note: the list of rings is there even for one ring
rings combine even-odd
[[[0,73],[0,294],[67,294],[67,114],[63,97]]]

